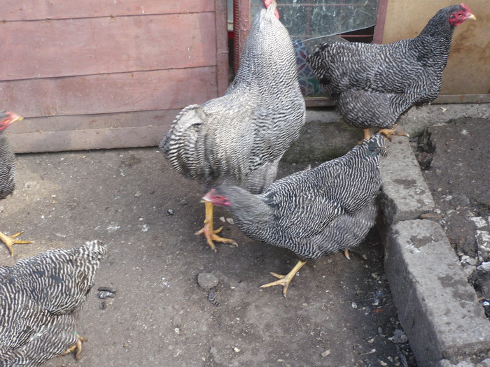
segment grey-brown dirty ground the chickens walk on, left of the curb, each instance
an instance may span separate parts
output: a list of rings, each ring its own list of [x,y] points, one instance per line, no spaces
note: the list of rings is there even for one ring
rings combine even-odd
[[[302,167],[302,166],[301,166]],[[201,188],[156,148],[19,154],[17,189],[0,202],[1,231],[31,245],[0,264],[100,239],[109,248],[80,312],[83,357],[46,366],[414,366],[372,233],[351,260],[311,261],[290,286],[260,289],[296,258],[225,222],[239,247],[209,250]],[[284,165],[283,173],[299,165]],[[216,213],[216,221],[225,216]],[[219,284],[197,284],[212,273]],[[117,290],[106,308],[97,287]]]

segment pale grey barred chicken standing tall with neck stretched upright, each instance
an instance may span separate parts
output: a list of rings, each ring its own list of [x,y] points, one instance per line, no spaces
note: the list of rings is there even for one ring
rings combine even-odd
[[[225,95],[184,108],[160,142],[172,166],[206,190],[226,181],[262,192],[305,121],[293,43],[278,20],[275,0],[265,0],[265,6]],[[196,234],[204,233],[212,250],[213,241],[235,243],[216,236],[220,230],[214,231],[213,206],[206,203],[204,228]]]

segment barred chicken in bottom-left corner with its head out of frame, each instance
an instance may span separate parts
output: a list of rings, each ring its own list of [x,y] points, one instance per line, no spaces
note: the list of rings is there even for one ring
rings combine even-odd
[[[73,350],[79,357],[76,312],[106,256],[93,240],[0,266],[0,366],[39,366]]]

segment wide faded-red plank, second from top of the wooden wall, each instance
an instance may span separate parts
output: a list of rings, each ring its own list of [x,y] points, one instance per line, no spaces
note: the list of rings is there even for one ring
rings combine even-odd
[[[215,22],[214,13],[6,22],[0,80],[216,65]]]

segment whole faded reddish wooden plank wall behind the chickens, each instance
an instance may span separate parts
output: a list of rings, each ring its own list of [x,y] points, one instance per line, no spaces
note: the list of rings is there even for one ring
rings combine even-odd
[[[156,145],[228,87],[226,0],[2,0],[0,20],[16,152]]]

